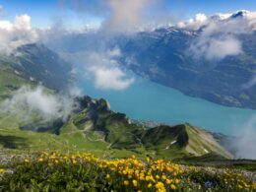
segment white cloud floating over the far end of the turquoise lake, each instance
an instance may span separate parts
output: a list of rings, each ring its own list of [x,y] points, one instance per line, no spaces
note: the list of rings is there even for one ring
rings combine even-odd
[[[77,67],[84,69],[84,77],[94,81],[96,89],[122,91],[134,82],[134,75],[122,67],[119,58],[122,56],[118,47],[105,49],[101,46],[98,51],[80,51],[63,53],[62,56]],[[78,69],[78,68],[77,68]],[[75,74],[78,71],[74,70]]]

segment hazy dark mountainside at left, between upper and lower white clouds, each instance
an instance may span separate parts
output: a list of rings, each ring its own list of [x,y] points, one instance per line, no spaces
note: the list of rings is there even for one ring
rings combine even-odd
[[[8,88],[11,92],[12,86],[14,90],[23,83],[63,90],[69,83],[70,70],[68,63],[44,45],[27,44],[17,48],[11,55],[0,56],[0,86],[5,92],[8,92]]]

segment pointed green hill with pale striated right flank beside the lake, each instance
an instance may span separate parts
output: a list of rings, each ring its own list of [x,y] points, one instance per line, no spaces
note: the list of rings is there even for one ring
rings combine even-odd
[[[213,138],[211,133],[189,124],[177,126],[159,126],[146,132],[143,142],[146,148],[155,149],[160,154],[168,153],[179,156],[204,156],[210,153],[219,154],[225,158],[232,155]]]

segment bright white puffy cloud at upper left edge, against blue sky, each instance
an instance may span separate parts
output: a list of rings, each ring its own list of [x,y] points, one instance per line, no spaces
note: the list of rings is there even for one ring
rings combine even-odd
[[[10,54],[17,47],[38,40],[38,35],[31,27],[31,17],[16,16],[15,22],[0,21],[0,52]]]

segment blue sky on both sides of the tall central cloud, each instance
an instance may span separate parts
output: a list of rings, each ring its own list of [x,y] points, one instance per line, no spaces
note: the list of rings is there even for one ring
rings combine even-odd
[[[96,0],[77,0],[83,2],[83,6],[92,10],[98,10]],[[65,3],[63,3],[65,2]],[[6,14],[3,19],[13,20],[16,15],[28,14],[32,17],[32,26],[45,28],[57,19],[65,21],[69,27],[83,27],[85,24],[98,25],[105,17],[98,12],[88,13],[81,9],[74,11],[72,4],[76,0],[0,0]],[[186,20],[197,13],[211,15],[220,12],[233,12],[240,9],[256,11],[255,0],[162,0],[159,9],[164,9],[175,20]],[[161,11],[161,10],[159,10]]]

